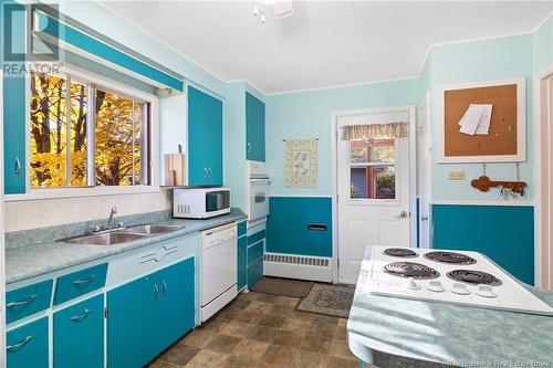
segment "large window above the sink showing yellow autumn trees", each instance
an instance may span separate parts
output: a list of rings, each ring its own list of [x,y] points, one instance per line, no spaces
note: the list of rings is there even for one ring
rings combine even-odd
[[[149,185],[148,103],[69,74],[30,90],[32,188]]]

